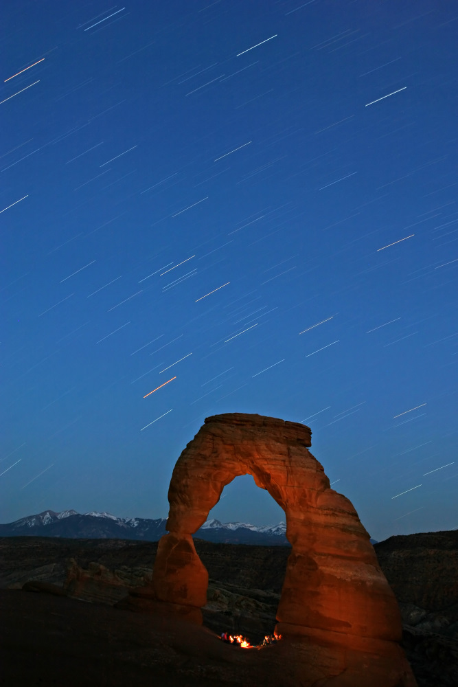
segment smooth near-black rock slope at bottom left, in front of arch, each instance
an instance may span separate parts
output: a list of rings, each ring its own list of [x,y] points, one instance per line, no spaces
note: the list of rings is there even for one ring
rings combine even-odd
[[[0,684],[84,687],[285,687],[264,651],[223,644],[176,618],[52,594],[0,590]],[[278,653],[278,652],[277,652]]]

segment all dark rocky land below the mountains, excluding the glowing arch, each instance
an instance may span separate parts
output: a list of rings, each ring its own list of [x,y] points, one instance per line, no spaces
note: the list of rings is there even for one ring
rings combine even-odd
[[[150,576],[156,549],[123,540],[0,539],[0,685],[300,687],[292,675],[275,673],[295,660],[290,649],[278,649],[282,642],[269,648],[275,658],[266,669],[270,660],[258,664],[251,651],[247,658],[211,633],[235,631],[258,642],[273,631],[290,548],[196,541],[210,577],[210,629],[192,633],[109,606]],[[403,647],[419,687],[457,687],[458,532],[391,537],[375,549],[400,604]],[[41,593],[22,591],[27,581]]]

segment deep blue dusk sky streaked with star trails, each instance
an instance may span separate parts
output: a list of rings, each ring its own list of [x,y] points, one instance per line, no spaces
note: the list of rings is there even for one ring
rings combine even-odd
[[[458,527],[457,10],[4,3],[1,522],[166,517],[243,412],[372,537]],[[247,476],[210,517],[284,513]]]

